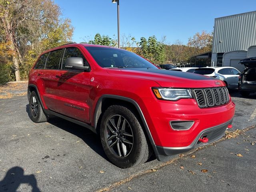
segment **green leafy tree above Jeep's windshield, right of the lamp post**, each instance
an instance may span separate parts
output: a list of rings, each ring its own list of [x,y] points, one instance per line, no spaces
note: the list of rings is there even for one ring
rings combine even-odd
[[[154,64],[161,64],[165,60],[164,44],[158,42],[156,36],[150,36],[148,40],[144,37],[140,38],[138,43],[139,53],[144,58],[150,60]]]

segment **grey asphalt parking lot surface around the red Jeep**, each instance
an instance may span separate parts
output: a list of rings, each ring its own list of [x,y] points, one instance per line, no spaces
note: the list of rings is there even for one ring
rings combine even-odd
[[[236,104],[230,139],[169,162],[152,158],[121,169],[86,128],[57,117],[32,122],[24,88],[0,98],[0,192],[255,191],[256,94],[241,98],[230,90]]]

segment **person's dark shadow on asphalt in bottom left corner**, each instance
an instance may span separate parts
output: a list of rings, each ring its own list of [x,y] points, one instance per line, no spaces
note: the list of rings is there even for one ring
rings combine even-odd
[[[34,174],[24,175],[21,167],[12,167],[0,181],[0,192],[16,192],[20,184],[29,184],[32,192],[40,192]]]

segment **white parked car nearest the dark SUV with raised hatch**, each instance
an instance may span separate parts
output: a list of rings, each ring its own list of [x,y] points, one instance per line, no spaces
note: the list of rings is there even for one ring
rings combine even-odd
[[[238,88],[240,71],[234,67],[202,67],[196,69],[193,73],[220,79],[225,82],[228,88]]]

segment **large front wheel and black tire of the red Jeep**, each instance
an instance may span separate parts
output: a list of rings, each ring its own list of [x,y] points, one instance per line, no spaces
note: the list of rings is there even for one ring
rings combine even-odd
[[[112,131],[116,133],[113,134]],[[112,105],[104,112],[100,124],[100,137],[106,156],[120,168],[142,164],[152,154],[152,146],[140,121],[132,110],[124,106]],[[114,146],[111,147],[112,144]]]

